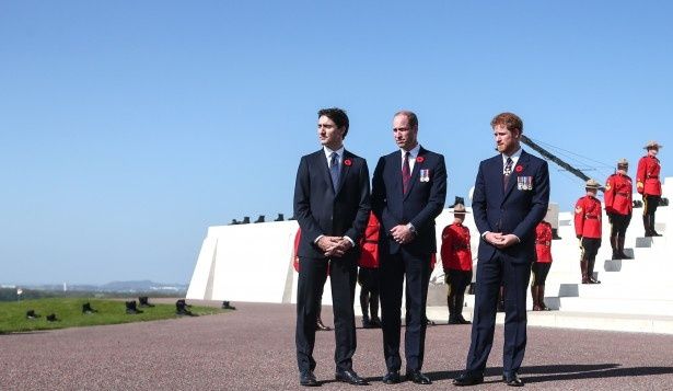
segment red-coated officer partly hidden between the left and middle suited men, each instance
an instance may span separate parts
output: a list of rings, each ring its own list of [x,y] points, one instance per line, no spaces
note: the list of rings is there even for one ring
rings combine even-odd
[[[358,284],[360,284],[360,307],[362,308],[362,327],[381,327],[379,319],[379,231],[381,225],[371,212],[364,235],[360,243]],[[368,311],[369,310],[369,311]],[[371,314],[371,318],[370,318]]]

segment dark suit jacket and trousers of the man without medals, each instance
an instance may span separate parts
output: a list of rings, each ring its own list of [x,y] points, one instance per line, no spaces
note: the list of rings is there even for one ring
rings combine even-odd
[[[297,363],[300,372],[314,370],[315,319],[329,273],[337,370],[352,368],[356,352],[353,299],[359,246],[370,212],[367,161],[344,150],[339,183],[334,189],[323,149],[301,158],[294,186],[294,217],[301,228],[297,289]],[[326,257],[315,244],[320,235],[347,235],[356,243],[341,257]],[[329,271],[329,272],[327,272]]]

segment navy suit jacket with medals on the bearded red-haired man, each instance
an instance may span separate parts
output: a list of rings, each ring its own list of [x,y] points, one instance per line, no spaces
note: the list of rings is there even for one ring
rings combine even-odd
[[[512,170],[507,188],[502,186],[502,156],[481,161],[472,198],[474,220],[479,233],[513,233],[521,243],[498,250],[481,239],[479,261],[502,251],[514,263],[535,261],[535,227],[547,212],[549,171],[547,162],[525,151]],[[530,187],[530,188],[529,188]]]

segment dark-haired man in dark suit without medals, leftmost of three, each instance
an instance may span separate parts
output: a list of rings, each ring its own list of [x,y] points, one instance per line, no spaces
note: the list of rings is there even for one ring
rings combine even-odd
[[[304,156],[297,171],[294,216],[301,228],[297,290],[297,363],[300,384],[320,386],[313,375],[315,317],[329,273],[336,337],[336,380],[367,384],[352,370],[356,352],[353,299],[360,237],[370,212],[367,161],[344,149],[348,116],[340,108],[318,113],[323,148]]]

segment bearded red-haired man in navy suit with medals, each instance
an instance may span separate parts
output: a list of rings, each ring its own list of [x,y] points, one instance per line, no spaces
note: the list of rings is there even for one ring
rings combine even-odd
[[[521,149],[521,118],[498,114],[490,123],[500,152],[481,161],[472,207],[479,241],[472,343],[465,372],[455,386],[484,381],[494,343],[498,290],[504,287],[504,348],[502,380],[521,387],[519,368],[526,343],[526,288],[535,261],[535,227],[547,212],[547,162]]]

